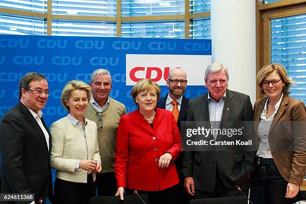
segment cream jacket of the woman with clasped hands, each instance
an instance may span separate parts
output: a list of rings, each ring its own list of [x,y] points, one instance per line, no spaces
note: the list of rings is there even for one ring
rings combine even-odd
[[[67,117],[52,123],[51,167],[56,178],[72,182],[87,182],[86,170],[74,171],[76,160],[96,160],[101,163],[95,122],[85,119],[85,137],[80,126],[74,126]],[[95,173],[92,173],[95,180]]]

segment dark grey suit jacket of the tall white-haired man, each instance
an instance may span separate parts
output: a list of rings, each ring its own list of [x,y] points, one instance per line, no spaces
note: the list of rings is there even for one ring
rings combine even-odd
[[[189,101],[188,121],[210,121],[207,97],[208,93],[205,93]],[[224,127],[225,121],[252,121],[252,118],[249,96],[227,89],[220,128]],[[254,170],[254,157],[255,152],[241,150],[184,151],[181,171],[185,176],[193,177],[195,189],[206,192],[215,187],[216,168],[227,188],[234,188],[235,184],[247,186],[247,173]]]

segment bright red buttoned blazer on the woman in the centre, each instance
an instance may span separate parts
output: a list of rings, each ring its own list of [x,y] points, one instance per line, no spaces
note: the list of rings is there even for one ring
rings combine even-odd
[[[153,128],[139,110],[122,115],[116,136],[115,176],[118,187],[157,191],[178,183],[173,160],[180,153],[180,134],[172,112],[155,108]],[[167,168],[159,157],[172,154]]]

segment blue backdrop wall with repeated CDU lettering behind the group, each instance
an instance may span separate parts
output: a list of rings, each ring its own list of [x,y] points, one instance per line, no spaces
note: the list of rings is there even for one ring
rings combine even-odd
[[[46,76],[51,91],[42,109],[44,120],[50,126],[67,114],[60,104],[64,84],[72,79],[88,83],[96,68],[110,71],[110,97],[125,104],[130,112],[136,106],[130,95],[132,86],[125,85],[125,54],[211,55],[211,40],[0,35],[0,116],[18,102],[20,78],[27,72],[40,72]],[[199,68],[204,67],[194,67],[193,71]],[[161,90],[161,97],[168,92],[165,85]],[[193,98],[206,91],[204,85],[189,85],[185,95]]]

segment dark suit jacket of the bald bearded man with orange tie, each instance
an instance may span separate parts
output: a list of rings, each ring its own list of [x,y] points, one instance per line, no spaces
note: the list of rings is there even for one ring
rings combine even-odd
[[[166,95],[165,97],[162,97],[158,100],[156,107],[165,109],[165,102],[167,100],[168,95]],[[180,110],[179,110],[179,114],[178,114],[178,119],[177,119],[177,127],[180,130],[180,121],[186,121],[187,119],[187,112],[188,112],[188,108],[189,108],[189,98],[185,97],[183,95],[182,99],[181,99],[181,106],[180,106]]]

